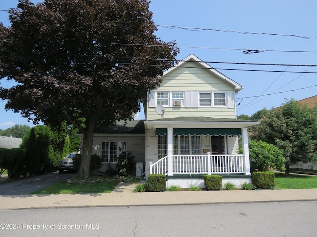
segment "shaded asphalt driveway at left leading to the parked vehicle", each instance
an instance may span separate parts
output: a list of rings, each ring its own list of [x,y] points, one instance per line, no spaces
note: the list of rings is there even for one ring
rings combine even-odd
[[[43,187],[50,186],[54,183],[69,179],[75,173],[64,172],[62,174],[53,172],[34,176],[31,178],[20,178],[7,183],[0,183],[0,195],[26,195]]]

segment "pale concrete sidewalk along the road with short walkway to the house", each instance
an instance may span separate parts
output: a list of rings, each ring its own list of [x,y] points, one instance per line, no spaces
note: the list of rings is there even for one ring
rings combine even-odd
[[[133,193],[120,183],[108,194],[2,195],[0,210],[100,206],[190,205],[236,202],[317,201],[317,189],[223,190]]]

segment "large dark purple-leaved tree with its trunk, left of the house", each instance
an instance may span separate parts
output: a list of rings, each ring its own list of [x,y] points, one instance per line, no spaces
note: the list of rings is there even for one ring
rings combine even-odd
[[[19,0],[9,19],[0,24],[0,79],[18,85],[0,98],[35,123],[78,128],[78,176],[88,178],[95,127],[132,119],[178,48],[155,36],[147,0]]]

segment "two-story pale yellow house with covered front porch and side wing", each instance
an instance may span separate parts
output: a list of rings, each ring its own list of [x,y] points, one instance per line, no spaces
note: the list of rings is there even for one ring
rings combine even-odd
[[[162,79],[147,95],[145,121],[94,135],[93,153],[103,158],[104,168],[127,150],[139,162],[138,169],[140,162],[145,164],[146,177],[165,174],[167,187],[204,186],[203,174],[222,175],[223,183],[238,186],[251,182],[247,127],[260,122],[236,119],[235,95],[243,87],[193,54],[165,71]]]

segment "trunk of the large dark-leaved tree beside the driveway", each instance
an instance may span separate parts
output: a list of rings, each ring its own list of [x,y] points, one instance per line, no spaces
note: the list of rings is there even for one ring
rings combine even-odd
[[[86,128],[83,133],[83,145],[81,150],[81,162],[78,170],[79,179],[88,179],[90,171],[90,159],[93,151],[93,137],[95,122],[90,120],[86,123]]]

